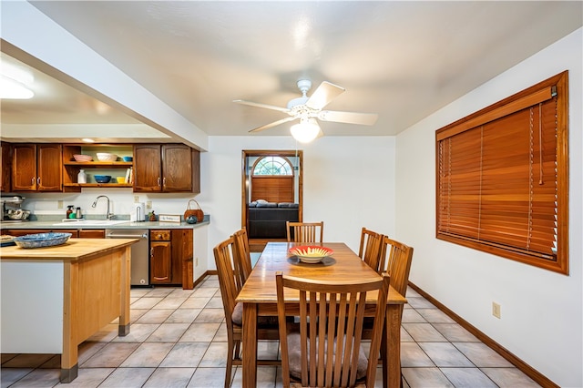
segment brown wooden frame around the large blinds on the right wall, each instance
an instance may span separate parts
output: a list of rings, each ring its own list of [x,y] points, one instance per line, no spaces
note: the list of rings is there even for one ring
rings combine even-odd
[[[465,236],[456,236],[440,230],[440,142],[455,137],[465,131],[478,128],[499,117],[508,117],[524,106],[524,101],[541,90],[556,87],[557,93],[557,254],[554,260],[548,260],[517,251],[503,244],[486,242]],[[548,271],[568,275],[568,71],[550,77],[533,87],[506,97],[495,104],[476,113],[461,118],[452,124],[435,131],[435,237],[475,250],[481,250],[497,256],[517,260]]]

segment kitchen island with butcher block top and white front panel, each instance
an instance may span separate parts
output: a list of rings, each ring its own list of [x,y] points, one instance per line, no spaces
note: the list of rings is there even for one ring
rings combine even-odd
[[[77,346],[118,319],[129,333],[133,239],[69,239],[0,248],[2,353],[61,354],[62,383],[77,377]]]

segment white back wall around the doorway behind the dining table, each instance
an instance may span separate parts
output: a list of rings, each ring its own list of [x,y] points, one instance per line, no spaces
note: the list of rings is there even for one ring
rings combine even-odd
[[[330,129],[333,130],[333,129]],[[324,221],[324,240],[358,251],[363,226],[394,234],[394,138],[323,137],[303,149],[303,220]],[[198,197],[212,215],[209,248],[240,229],[241,151],[296,149],[291,137],[210,137]],[[209,268],[215,269],[212,252]]]

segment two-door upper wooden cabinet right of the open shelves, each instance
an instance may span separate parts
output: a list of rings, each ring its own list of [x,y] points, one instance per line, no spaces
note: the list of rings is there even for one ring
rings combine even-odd
[[[200,192],[200,153],[183,144],[134,145],[134,192]]]

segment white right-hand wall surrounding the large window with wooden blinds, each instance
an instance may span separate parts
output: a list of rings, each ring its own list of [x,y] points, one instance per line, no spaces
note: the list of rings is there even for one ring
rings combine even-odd
[[[583,29],[408,128],[396,139],[396,237],[410,280],[560,386],[583,386]],[[435,130],[569,71],[569,276],[435,239]],[[502,318],[492,316],[492,301]]]

